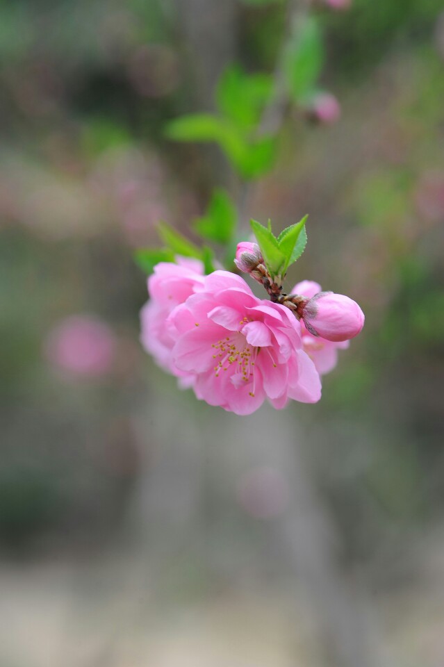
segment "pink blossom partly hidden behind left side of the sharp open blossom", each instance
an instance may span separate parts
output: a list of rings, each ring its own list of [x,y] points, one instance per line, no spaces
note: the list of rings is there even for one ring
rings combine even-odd
[[[202,289],[204,265],[199,260],[177,257],[177,264],[161,262],[154,267],[148,279],[149,301],[140,311],[140,341],[164,370],[180,378],[181,386],[189,386],[194,379],[191,372],[176,368],[172,359],[175,332],[168,316],[176,306],[195,291]]]

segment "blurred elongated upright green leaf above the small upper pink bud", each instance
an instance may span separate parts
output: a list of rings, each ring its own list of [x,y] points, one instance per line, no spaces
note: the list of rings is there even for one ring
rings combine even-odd
[[[306,17],[296,26],[285,56],[288,89],[295,101],[300,101],[314,87],[323,60],[324,51],[318,22],[313,16]]]

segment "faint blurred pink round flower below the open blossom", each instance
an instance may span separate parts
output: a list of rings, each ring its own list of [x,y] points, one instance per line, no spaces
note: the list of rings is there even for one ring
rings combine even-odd
[[[286,479],[274,468],[254,468],[238,480],[236,497],[240,507],[256,519],[279,516],[288,505]]]

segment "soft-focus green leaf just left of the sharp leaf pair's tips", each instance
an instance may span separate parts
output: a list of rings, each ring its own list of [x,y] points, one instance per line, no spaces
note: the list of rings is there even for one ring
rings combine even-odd
[[[228,243],[236,229],[237,212],[227,192],[214,190],[204,217],[193,227],[203,238],[216,243]]]

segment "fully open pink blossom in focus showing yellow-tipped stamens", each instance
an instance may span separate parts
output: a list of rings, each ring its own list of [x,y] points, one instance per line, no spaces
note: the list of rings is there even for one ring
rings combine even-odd
[[[302,349],[297,318],[255,297],[239,276],[207,276],[202,289],[172,310],[167,327],[176,341],[172,372],[194,374],[197,398],[211,405],[248,415],[265,398],[277,409],[290,399],[320,399],[319,374]]]

